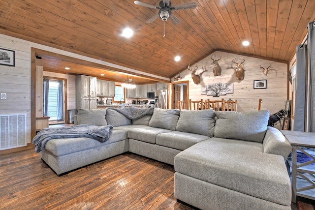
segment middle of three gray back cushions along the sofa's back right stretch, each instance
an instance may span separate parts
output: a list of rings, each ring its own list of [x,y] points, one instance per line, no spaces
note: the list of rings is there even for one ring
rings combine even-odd
[[[215,117],[214,110],[182,110],[176,130],[213,137]]]

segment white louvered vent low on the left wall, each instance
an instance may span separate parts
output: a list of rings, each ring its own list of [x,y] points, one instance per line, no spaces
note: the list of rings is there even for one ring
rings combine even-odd
[[[0,150],[27,146],[26,114],[0,115]]]

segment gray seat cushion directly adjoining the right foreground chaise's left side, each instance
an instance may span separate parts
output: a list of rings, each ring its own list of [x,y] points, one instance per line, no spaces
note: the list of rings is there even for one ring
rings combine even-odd
[[[168,133],[161,133],[157,135],[157,145],[173,148],[176,150],[186,150],[192,145],[209,139],[209,136],[172,131]]]

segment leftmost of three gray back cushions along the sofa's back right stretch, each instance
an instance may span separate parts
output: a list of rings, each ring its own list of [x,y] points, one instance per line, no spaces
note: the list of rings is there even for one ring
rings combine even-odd
[[[149,126],[175,130],[179,114],[180,111],[176,109],[154,108]]]

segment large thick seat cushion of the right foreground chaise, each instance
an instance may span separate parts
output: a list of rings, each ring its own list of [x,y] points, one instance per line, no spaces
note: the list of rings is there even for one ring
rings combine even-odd
[[[175,171],[221,187],[289,206],[291,183],[284,158],[256,142],[211,138],[175,156]]]

